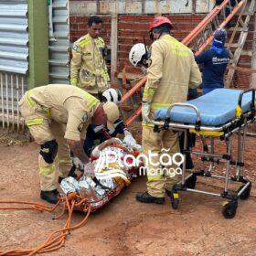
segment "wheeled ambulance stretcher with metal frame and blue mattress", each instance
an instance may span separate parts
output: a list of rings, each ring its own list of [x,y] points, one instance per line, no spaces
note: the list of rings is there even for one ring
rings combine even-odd
[[[155,132],[172,129],[185,132],[184,158],[181,182],[170,193],[173,208],[178,207],[178,191],[191,191],[224,198],[222,214],[226,219],[236,215],[238,199],[250,197],[251,181],[243,176],[246,128],[255,121],[255,91],[216,89],[192,101],[172,104],[168,109],[155,112]],[[197,133],[202,141],[202,150],[187,146],[187,133]],[[232,154],[232,135],[238,134],[238,154]],[[214,138],[226,143],[227,152],[217,154]],[[208,146],[207,141],[210,145]],[[201,156],[201,169],[186,176],[186,154]],[[224,164],[225,175],[212,174],[214,165]],[[231,166],[234,172],[231,172]],[[221,193],[196,189],[197,176],[224,180]],[[240,184],[236,193],[230,193],[229,183]]]

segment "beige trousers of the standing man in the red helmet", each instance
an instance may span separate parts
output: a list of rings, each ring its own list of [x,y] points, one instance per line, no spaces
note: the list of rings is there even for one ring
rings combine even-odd
[[[144,159],[147,192],[153,197],[165,197],[165,189],[171,190],[180,180],[181,172],[176,172],[175,164],[179,160],[171,161],[173,155],[180,153],[178,133],[172,130],[154,133],[153,127],[143,126],[142,141],[143,153],[147,156],[147,160]]]

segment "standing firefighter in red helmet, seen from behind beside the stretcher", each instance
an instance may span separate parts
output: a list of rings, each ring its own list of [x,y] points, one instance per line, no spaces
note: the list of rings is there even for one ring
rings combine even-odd
[[[176,166],[164,165],[170,162],[161,157],[166,153],[172,156],[180,152],[178,133],[172,130],[154,133],[151,120],[155,119],[155,111],[186,101],[188,88],[197,88],[202,81],[192,51],[170,36],[172,27],[164,16],[155,17],[149,27],[150,37],[155,42],[147,61],[149,67],[142,107],[143,153],[148,156],[145,162],[147,191],[136,195],[136,199],[144,203],[163,204],[165,190],[171,191],[178,180],[171,171]]]

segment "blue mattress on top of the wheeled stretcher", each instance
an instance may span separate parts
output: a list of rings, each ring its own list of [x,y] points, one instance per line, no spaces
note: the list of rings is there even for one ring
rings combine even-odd
[[[235,119],[236,107],[238,105],[240,90],[216,89],[208,94],[185,103],[197,107],[200,113],[201,125],[219,126]],[[242,112],[248,112],[251,108],[252,92],[249,91],[242,96]],[[165,120],[167,109],[158,110],[155,116]],[[175,106],[170,112],[170,121],[173,123],[195,124],[197,113],[188,107]]]

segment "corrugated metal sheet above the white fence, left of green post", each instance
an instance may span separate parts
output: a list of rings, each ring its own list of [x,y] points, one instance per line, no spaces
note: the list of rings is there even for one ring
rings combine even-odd
[[[0,1],[0,70],[26,74],[28,69],[27,1]]]

